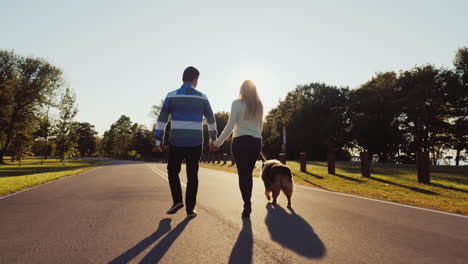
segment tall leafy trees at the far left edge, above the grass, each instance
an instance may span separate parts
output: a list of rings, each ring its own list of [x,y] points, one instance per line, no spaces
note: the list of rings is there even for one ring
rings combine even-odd
[[[90,156],[94,126],[74,121],[78,110],[62,70],[44,59],[0,50],[0,163],[26,156]],[[49,117],[50,110],[59,113]]]

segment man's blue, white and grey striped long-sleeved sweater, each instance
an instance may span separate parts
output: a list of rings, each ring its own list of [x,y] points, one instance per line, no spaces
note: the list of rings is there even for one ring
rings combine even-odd
[[[178,147],[194,147],[203,144],[203,116],[208,124],[210,138],[214,141],[218,134],[216,121],[210,102],[203,93],[191,84],[167,94],[156,123],[154,135],[156,145],[162,144],[167,121],[171,116],[169,143]]]

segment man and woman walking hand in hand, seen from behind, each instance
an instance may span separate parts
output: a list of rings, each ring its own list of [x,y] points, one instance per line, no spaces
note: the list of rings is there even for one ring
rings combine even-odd
[[[187,169],[185,206],[187,217],[197,216],[195,204],[198,191],[198,168],[203,146],[203,117],[206,118],[210,149],[217,150],[233,133],[232,154],[239,174],[239,188],[244,201],[242,217],[252,211],[252,171],[261,150],[263,105],[255,84],[248,80],[240,87],[239,99],[232,102],[229,121],[219,137],[216,120],[206,95],[196,90],[200,72],[194,67],[185,69],[182,87],[167,94],[156,128],[155,151],[161,151],[164,131],[171,116],[167,174],[173,205],[167,211],[175,214],[184,207],[179,173],[182,161]]]

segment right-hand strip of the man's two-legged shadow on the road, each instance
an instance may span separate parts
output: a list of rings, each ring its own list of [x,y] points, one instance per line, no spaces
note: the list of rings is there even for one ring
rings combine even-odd
[[[146,254],[140,263],[158,263],[192,219],[193,218],[185,218],[184,221],[180,222]]]

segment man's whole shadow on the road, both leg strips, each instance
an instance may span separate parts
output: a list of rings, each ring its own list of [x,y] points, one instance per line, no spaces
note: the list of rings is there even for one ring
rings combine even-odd
[[[156,240],[164,236],[161,241],[159,241],[151,250],[146,254],[146,256],[139,262],[139,263],[158,263],[164,254],[169,250],[172,246],[174,241],[179,237],[179,235],[184,231],[187,224],[193,218],[185,218],[182,222],[180,222],[174,229],[171,230],[171,219],[164,218],[159,222],[158,229],[151,234],[150,236],[146,237],[138,244],[133,246],[132,248],[128,249],[120,256],[114,258],[109,263],[110,264],[121,264],[121,263],[129,263],[133,260],[136,256],[138,256],[141,252],[151,246]],[[169,232],[170,231],[170,232]],[[169,232],[169,233],[168,233]]]

